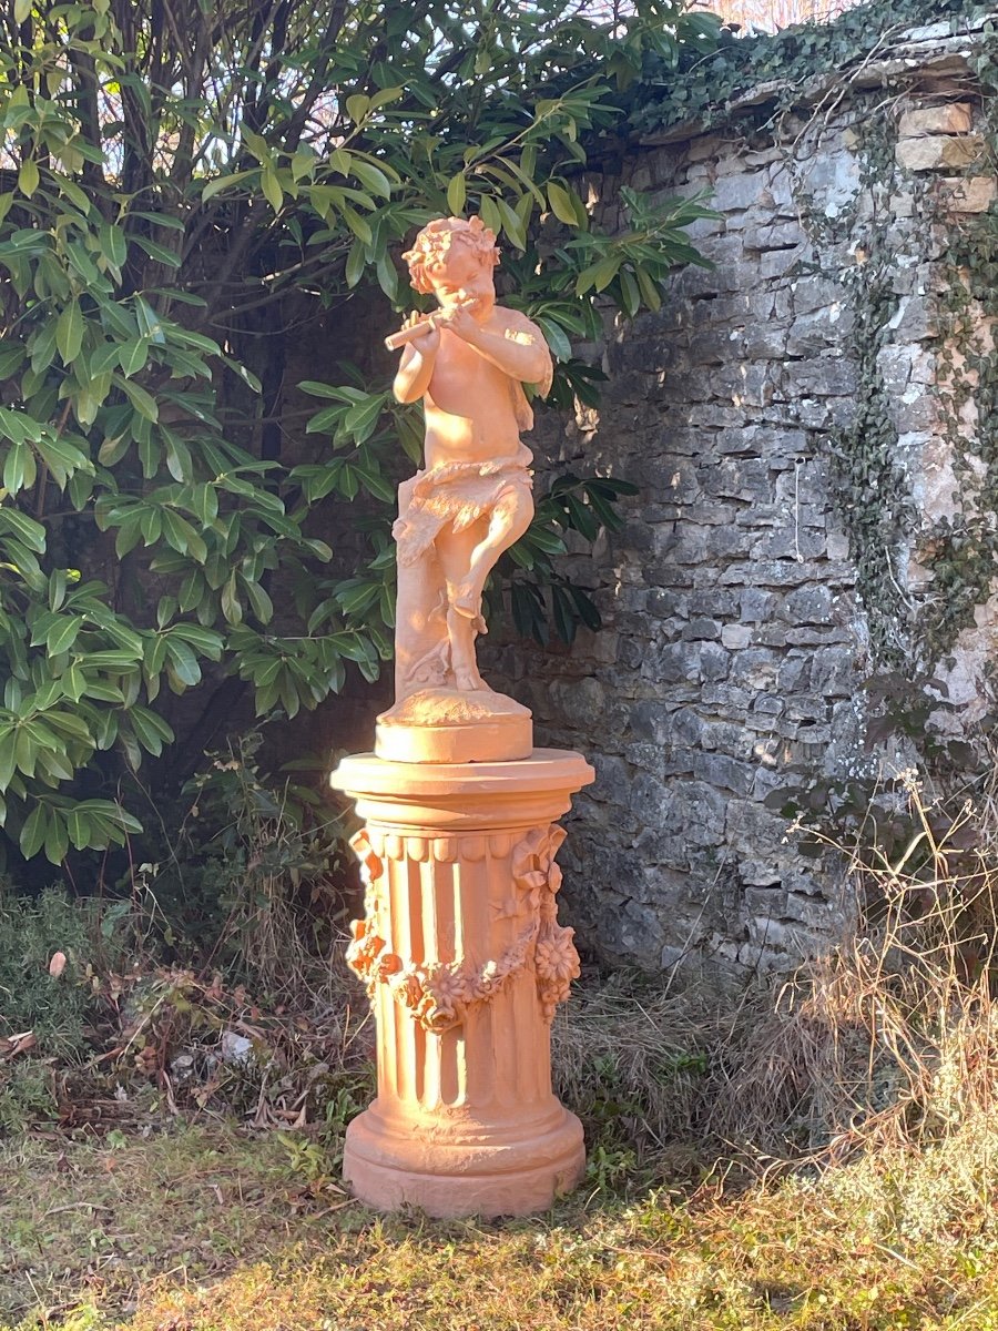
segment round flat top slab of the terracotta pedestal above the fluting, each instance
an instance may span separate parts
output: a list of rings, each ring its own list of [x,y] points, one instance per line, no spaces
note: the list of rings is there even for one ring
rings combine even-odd
[[[527,795],[578,791],[596,773],[574,749],[534,749],[530,757],[502,763],[395,763],[375,753],[346,757],[330,777],[334,791],[350,795]]]

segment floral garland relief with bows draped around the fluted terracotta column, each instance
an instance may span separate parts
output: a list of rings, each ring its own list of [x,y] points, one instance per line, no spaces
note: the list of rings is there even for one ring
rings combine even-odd
[[[366,893],[365,917],[350,925],[353,941],[346,961],[365,982],[371,1001],[378,985],[387,985],[395,1002],[411,1012],[426,1030],[440,1034],[460,1025],[475,1004],[491,1002],[511,976],[532,962],[542,1012],[551,1021],[555,1008],[566,1001],[572,980],[579,976],[579,953],[572,942],[575,930],[558,924],[555,901],[562,886],[555,855],[564,837],[564,828],[552,823],[534,828],[514,847],[515,901],[503,913],[527,916],[530,922],[498,961],[487,961],[483,966],[467,961],[405,961],[390,952],[381,922],[385,865],[366,829],[351,837]]]

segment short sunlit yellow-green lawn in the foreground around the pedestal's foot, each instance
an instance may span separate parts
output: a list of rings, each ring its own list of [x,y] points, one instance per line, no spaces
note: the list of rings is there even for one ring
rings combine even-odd
[[[506,1225],[373,1215],[234,1125],[0,1155],[19,1331],[998,1331],[998,1127],[820,1178],[582,1189]],[[633,1187],[633,1182],[632,1182]]]

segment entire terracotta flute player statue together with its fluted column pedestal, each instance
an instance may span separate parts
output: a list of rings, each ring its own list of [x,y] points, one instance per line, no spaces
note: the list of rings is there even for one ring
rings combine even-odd
[[[540,330],[495,303],[495,236],[440,218],[406,256],[436,297],[389,338],[401,402],[422,398],[424,469],[399,488],[395,705],[374,753],[333,785],[363,821],[366,885],[347,962],[378,1026],[378,1095],[350,1123],[343,1178],[369,1206],[524,1215],[585,1167],[579,1119],[551,1087],[550,1028],[579,974],[558,922],[556,819],[595,773],[534,748],[526,707],[483,683],[482,588],[534,515],[532,414],[546,393]]]

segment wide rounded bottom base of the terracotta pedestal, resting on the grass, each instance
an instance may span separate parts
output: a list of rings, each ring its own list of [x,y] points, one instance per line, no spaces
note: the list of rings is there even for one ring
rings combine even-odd
[[[585,1170],[582,1123],[554,1101],[554,1123],[519,1141],[482,1127],[393,1131],[377,1102],[346,1133],[343,1178],[381,1211],[418,1206],[427,1215],[531,1215],[570,1193]]]

